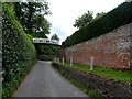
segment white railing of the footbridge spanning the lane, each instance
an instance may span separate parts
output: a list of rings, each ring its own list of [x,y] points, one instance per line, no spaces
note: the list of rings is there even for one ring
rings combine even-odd
[[[45,43],[45,44],[59,45],[58,41],[56,41],[56,40],[48,40],[48,38],[33,38],[33,43]]]

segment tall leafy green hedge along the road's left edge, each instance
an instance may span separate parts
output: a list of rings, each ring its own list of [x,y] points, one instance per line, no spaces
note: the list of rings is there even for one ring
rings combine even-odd
[[[15,18],[12,3],[2,3],[2,98],[14,92],[36,59],[31,40]]]

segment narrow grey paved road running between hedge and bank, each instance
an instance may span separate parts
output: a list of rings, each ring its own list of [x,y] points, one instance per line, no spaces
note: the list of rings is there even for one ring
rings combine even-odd
[[[51,62],[37,61],[13,97],[88,97],[63,78]]]

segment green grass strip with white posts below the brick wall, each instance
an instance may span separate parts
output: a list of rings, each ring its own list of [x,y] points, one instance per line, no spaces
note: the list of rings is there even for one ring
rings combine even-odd
[[[67,66],[70,68],[84,70],[84,72],[89,72],[91,74],[98,75],[105,79],[114,79],[116,81],[122,81],[124,84],[132,84],[132,80],[130,79],[132,77],[131,72],[121,72],[121,70],[116,70],[116,69],[110,69],[110,68],[105,68],[105,67],[94,67],[94,70],[90,72],[90,66],[87,65],[78,65],[78,64],[73,64],[70,66],[69,63],[56,63],[62,66]]]

